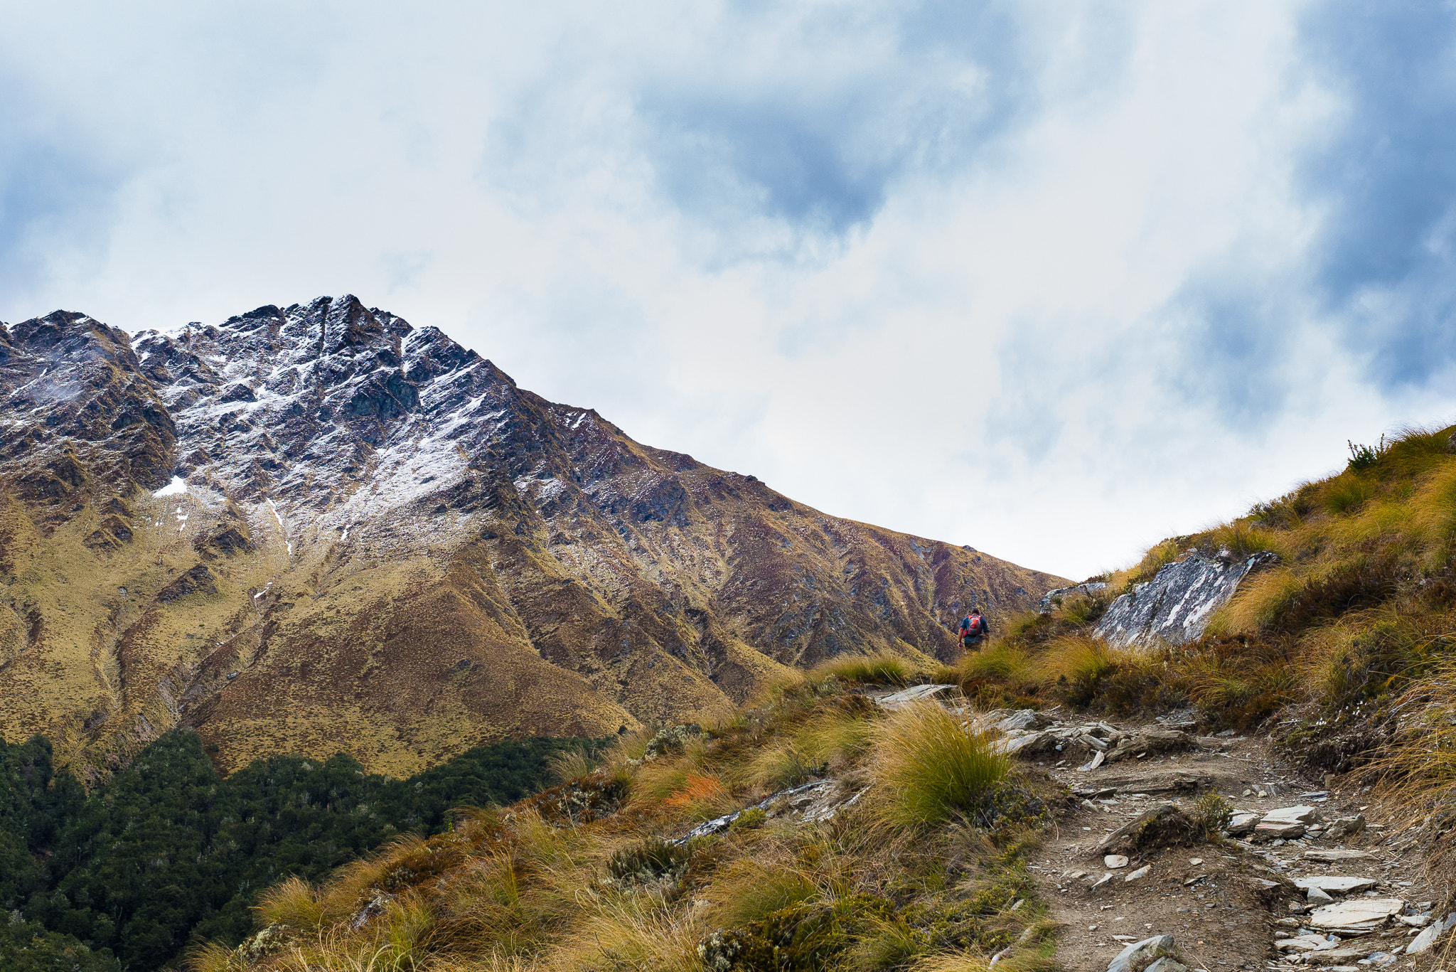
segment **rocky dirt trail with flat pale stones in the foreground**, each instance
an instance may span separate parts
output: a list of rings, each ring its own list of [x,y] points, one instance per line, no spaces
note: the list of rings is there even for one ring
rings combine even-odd
[[[1070,972],[1109,969],[1159,936],[1172,938],[1169,963],[1207,972],[1436,968],[1443,895],[1369,793],[1328,790],[1268,739],[1198,736],[1179,714],[1128,724],[1024,710],[981,721],[1077,799],[1031,858]],[[1235,809],[1223,835],[1179,834],[1210,793]]]

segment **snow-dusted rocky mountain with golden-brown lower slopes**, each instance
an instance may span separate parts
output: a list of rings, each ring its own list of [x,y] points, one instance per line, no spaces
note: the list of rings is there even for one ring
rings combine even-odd
[[[642,446],[354,297],[0,326],[0,730],[79,765],[178,723],[224,767],[408,772],[711,718],[1066,583]]]

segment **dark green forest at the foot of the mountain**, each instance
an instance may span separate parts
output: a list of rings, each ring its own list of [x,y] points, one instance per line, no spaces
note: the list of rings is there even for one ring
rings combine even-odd
[[[552,756],[601,745],[501,742],[408,780],[345,755],[272,756],[223,778],[178,730],[87,794],[54,772],[47,739],[0,742],[0,968],[150,972],[191,941],[242,941],[269,885],[438,834],[453,807],[514,803],[553,783]]]

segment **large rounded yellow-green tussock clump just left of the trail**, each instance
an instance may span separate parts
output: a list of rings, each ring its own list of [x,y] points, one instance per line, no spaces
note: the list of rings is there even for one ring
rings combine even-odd
[[[1009,761],[935,702],[914,702],[878,727],[874,772],[882,818],[907,828],[971,818],[1006,778]]]

